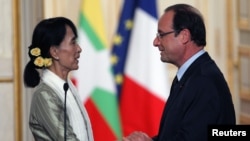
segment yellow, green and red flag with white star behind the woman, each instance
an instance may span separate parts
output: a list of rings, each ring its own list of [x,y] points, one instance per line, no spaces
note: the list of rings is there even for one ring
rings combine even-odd
[[[121,138],[117,97],[100,0],[83,0],[79,17],[79,69],[75,84],[85,105],[95,141]],[[81,125],[79,125],[81,126]]]

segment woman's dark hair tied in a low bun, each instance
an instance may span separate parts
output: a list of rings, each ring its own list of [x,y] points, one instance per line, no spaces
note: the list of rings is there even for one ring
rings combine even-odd
[[[27,87],[35,87],[40,82],[40,75],[37,69],[43,69],[34,64],[37,56],[31,54],[31,50],[39,48],[40,56],[51,58],[50,47],[59,46],[66,34],[66,25],[68,25],[77,37],[77,29],[73,22],[65,17],[54,17],[40,21],[33,31],[32,43],[29,46],[30,61],[24,69],[24,83]]]

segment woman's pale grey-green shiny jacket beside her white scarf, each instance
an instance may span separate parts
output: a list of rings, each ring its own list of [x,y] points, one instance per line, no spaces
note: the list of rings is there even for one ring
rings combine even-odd
[[[78,105],[81,103],[78,101]],[[81,106],[80,106],[81,107]],[[64,103],[56,92],[46,85],[40,83],[33,95],[29,125],[36,141],[63,141],[64,140]],[[83,117],[86,111],[81,108]],[[88,116],[87,116],[88,117]],[[67,116],[67,141],[78,141]],[[81,126],[81,125],[79,125]],[[87,134],[89,141],[93,141],[90,122],[87,123]]]

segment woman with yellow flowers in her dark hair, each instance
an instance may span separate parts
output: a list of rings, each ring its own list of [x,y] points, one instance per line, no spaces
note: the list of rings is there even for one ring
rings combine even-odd
[[[76,39],[75,25],[64,17],[42,20],[34,29],[24,83],[37,86],[29,118],[35,140],[93,141],[88,114],[68,77],[82,51]]]

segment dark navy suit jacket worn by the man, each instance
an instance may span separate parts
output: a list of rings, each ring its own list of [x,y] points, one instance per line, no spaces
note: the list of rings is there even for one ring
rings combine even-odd
[[[159,133],[153,140],[206,141],[208,125],[235,123],[228,85],[215,62],[204,53],[171,87]]]

